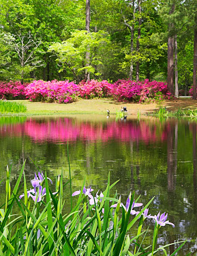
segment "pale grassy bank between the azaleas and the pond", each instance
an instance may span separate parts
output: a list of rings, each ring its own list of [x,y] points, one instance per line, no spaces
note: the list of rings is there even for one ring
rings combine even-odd
[[[70,104],[58,104],[58,103],[41,103],[31,101],[15,101],[17,103],[23,103],[27,107],[27,112],[17,114],[6,115],[20,115],[20,116],[35,116],[35,115],[67,115],[67,114],[102,114],[106,115],[106,110],[110,110],[110,114],[116,114],[121,110],[121,107],[127,107],[127,115],[137,116],[140,114],[148,114],[160,109],[160,105],[157,103],[151,104],[139,104],[139,103],[123,103],[116,102],[110,99],[81,99],[79,101]],[[166,107],[168,111],[175,112],[181,109],[196,109],[197,102],[192,99],[177,99],[174,101],[164,101],[163,107]],[[0,114],[2,115],[2,114]],[[5,115],[5,114],[3,114]]]

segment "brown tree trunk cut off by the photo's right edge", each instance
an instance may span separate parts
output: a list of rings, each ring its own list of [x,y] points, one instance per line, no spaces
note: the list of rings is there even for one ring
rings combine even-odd
[[[197,14],[195,16],[195,25],[197,23]],[[194,68],[193,68],[193,95],[192,99],[196,99],[196,69],[197,69],[197,27],[194,28]]]

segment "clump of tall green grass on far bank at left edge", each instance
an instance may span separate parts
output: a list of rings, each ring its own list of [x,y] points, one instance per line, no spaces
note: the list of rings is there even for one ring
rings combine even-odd
[[[26,112],[27,107],[22,103],[16,103],[13,101],[0,101],[0,112],[1,113],[19,113]]]

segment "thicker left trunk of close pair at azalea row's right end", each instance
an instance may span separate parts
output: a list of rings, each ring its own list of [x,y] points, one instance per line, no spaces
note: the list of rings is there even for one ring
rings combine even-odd
[[[175,3],[172,4],[170,14],[175,11]],[[172,33],[173,24],[168,25],[168,91],[174,94],[174,38],[170,35]]]

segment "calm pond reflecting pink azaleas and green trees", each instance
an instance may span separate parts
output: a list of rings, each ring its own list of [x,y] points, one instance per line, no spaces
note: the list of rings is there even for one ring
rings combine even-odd
[[[81,188],[85,177],[94,190],[104,190],[110,172],[111,182],[119,179],[115,190],[123,202],[130,191],[141,195],[139,201],[144,204],[155,196],[149,212],[168,212],[168,220],[175,223],[175,229],[170,225],[160,229],[160,244],[195,240],[179,253],[186,255],[197,248],[196,130],[196,122],[188,119],[0,117],[0,179],[5,178],[6,165],[12,165],[13,186],[27,159],[29,187],[35,164],[47,170],[52,180],[63,172],[67,181],[68,144],[73,190]],[[0,190],[2,205],[5,182]],[[153,223],[147,226],[151,235]],[[170,251],[175,248],[171,246]]]

